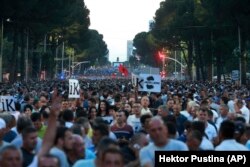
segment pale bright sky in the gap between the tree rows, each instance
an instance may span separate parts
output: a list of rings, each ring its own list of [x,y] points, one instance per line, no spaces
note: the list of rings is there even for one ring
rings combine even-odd
[[[149,30],[163,0],[84,0],[90,10],[90,29],[103,35],[109,61],[127,61],[127,40]]]

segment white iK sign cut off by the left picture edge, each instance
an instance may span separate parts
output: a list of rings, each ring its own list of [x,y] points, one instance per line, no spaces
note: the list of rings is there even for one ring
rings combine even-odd
[[[0,96],[0,110],[1,111],[16,111],[13,96]]]

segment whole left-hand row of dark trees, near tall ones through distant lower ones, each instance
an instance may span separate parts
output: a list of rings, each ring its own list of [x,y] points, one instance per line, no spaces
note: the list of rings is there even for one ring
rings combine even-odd
[[[14,81],[17,74],[37,78],[43,70],[54,77],[72,61],[107,64],[107,45],[89,29],[89,13],[83,0],[1,0],[3,73]]]

